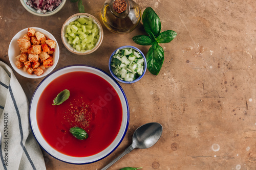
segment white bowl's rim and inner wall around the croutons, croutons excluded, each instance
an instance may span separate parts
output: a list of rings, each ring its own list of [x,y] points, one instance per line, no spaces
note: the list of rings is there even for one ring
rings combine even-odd
[[[28,72],[24,71],[23,68],[17,68],[15,65],[16,60],[16,56],[18,56],[20,54],[19,52],[19,46],[17,43],[17,40],[19,38],[22,38],[28,31],[28,28],[23,29],[22,31],[19,31],[11,40],[10,45],[9,45],[9,49],[8,49],[8,56],[9,56],[9,60],[10,63],[13,67],[13,69],[19,74],[22,75],[26,78],[31,78],[31,79],[37,79],[37,78],[41,78],[41,77],[45,77],[46,75],[48,75],[57,65],[58,60],[59,60],[59,45],[57,40],[54,38],[54,36],[49,33],[48,31],[41,29],[41,28],[36,28],[36,27],[32,27],[35,29],[35,31],[39,31],[40,33],[44,34],[47,38],[50,38],[52,40],[54,40],[56,42],[56,47],[55,47],[55,52],[53,53],[53,66],[48,67],[45,72],[40,75],[40,76],[36,76],[35,74],[33,75],[29,75]]]

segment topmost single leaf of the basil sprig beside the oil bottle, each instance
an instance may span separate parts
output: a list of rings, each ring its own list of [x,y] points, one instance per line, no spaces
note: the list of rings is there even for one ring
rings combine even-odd
[[[151,32],[155,37],[158,37],[161,31],[161,21],[158,15],[151,7],[147,7],[142,14],[142,22],[144,29],[148,35]]]

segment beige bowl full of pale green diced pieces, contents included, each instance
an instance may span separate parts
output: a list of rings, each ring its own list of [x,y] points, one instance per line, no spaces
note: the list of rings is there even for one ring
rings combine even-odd
[[[99,20],[91,14],[74,14],[64,22],[61,40],[74,54],[91,54],[97,50],[103,40],[102,26]]]

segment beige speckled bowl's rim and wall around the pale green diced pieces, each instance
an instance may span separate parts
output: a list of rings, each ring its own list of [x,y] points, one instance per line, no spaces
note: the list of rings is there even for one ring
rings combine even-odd
[[[76,19],[78,18],[81,18],[81,17],[86,17],[86,18],[89,18],[89,16],[91,16],[93,18],[93,21],[94,23],[97,24],[98,26],[98,30],[99,30],[99,40],[98,42],[95,44],[94,48],[92,50],[87,50],[86,52],[82,53],[82,52],[79,52],[77,51],[75,48],[73,48],[73,46],[71,46],[69,43],[68,43],[68,39],[65,37],[65,34],[66,34],[66,29],[67,29],[67,26],[69,25],[70,22],[72,21],[75,21]],[[62,29],[61,29],[61,40],[63,42],[63,44],[66,46],[66,48],[71,52],[71,53],[74,53],[74,54],[78,54],[78,55],[87,55],[87,54],[91,54],[93,52],[95,52],[98,47],[100,46],[102,40],[103,40],[103,29],[102,29],[102,26],[100,25],[100,22],[97,18],[95,18],[93,15],[91,14],[88,14],[88,13],[77,13],[77,14],[74,14],[72,16],[70,16],[64,23],[63,23],[63,26],[62,26]]]

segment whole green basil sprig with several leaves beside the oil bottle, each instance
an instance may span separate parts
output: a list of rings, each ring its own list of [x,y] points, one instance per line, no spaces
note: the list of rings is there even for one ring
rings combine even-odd
[[[172,41],[177,33],[172,30],[161,33],[160,18],[151,7],[144,10],[142,22],[148,35],[137,35],[133,37],[133,40],[139,45],[152,45],[146,54],[147,69],[153,75],[158,75],[164,60],[163,48],[158,43]]]

